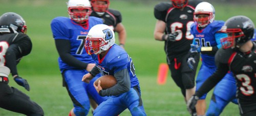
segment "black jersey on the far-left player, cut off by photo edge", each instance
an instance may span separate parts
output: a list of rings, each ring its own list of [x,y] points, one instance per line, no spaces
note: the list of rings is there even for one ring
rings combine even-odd
[[[31,49],[32,42],[24,33],[0,34],[0,66],[7,66],[12,75],[16,75],[17,63],[23,56],[29,54]]]

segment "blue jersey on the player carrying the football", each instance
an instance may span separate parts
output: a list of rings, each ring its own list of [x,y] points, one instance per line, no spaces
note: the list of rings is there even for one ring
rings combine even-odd
[[[139,85],[139,80],[135,74],[133,60],[123,48],[114,44],[101,60],[99,60],[98,56],[99,55],[92,54],[102,75],[114,75],[122,69],[127,69],[130,74],[131,88]]]

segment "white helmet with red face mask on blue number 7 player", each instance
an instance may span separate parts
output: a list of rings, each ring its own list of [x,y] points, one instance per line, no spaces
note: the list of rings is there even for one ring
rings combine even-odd
[[[89,0],[69,0],[67,5],[69,18],[77,22],[74,24],[86,25],[92,12]],[[80,12],[73,12],[74,9],[79,10]]]

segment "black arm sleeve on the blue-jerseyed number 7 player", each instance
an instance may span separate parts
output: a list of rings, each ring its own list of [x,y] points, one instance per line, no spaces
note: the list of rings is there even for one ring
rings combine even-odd
[[[70,54],[70,41],[64,39],[56,39],[55,45],[61,60],[70,66],[76,67],[78,69],[86,69],[87,63],[77,60],[74,56]]]

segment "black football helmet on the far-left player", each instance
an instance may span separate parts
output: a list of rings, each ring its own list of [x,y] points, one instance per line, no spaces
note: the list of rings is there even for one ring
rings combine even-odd
[[[26,33],[27,26],[22,16],[8,12],[0,17],[0,33]]]

